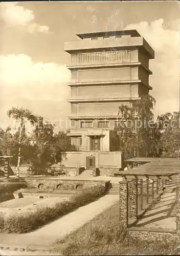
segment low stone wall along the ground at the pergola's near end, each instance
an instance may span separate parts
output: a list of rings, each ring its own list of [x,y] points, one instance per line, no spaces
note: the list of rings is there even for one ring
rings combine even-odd
[[[160,229],[151,231],[151,230],[142,230],[142,229],[136,229],[133,230],[133,228],[130,228],[127,230],[129,235],[132,238],[140,239],[140,240],[166,240],[167,242],[179,242],[179,234],[177,232],[170,232],[170,231],[163,231]]]

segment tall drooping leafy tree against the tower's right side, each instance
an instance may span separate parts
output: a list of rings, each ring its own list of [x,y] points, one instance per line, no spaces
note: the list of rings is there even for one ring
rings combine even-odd
[[[125,158],[157,156],[157,127],[153,121],[151,95],[142,96],[135,101],[132,108],[119,106],[118,122],[115,126],[115,137]]]

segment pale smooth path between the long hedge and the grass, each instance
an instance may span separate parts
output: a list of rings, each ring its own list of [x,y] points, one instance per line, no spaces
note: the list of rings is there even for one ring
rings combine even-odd
[[[33,232],[25,234],[0,234],[0,244],[51,246],[57,239],[83,226],[119,201],[119,195],[105,195],[95,202],[79,207],[70,214],[59,218]]]

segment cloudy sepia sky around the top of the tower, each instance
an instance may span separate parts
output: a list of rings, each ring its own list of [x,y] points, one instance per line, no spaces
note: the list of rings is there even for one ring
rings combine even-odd
[[[155,51],[150,60],[154,116],[179,110],[179,3],[1,2],[0,126],[12,106],[53,121],[70,116],[70,54],[77,33],[136,29]],[[59,130],[60,128],[57,127]]]

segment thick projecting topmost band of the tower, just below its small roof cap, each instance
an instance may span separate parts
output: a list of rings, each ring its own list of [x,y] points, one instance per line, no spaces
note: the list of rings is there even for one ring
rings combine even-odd
[[[148,55],[149,59],[154,59],[154,50],[143,37],[122,37],[109,38],[108,40],[80,40],[74,42],[65,42],[64,51],[68,53],[95,52],[103,49],[111,50],[132,50],[142,49]]]

